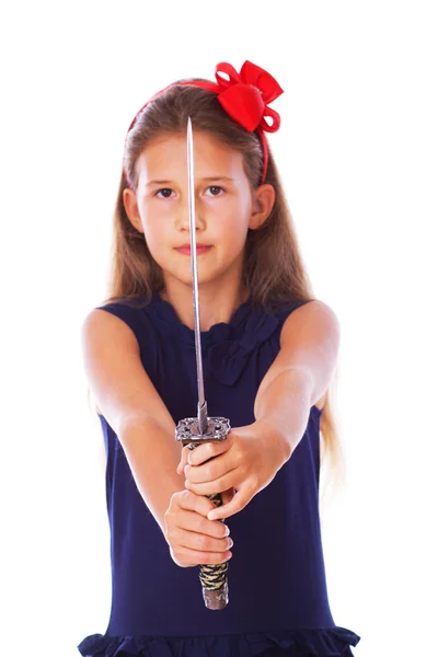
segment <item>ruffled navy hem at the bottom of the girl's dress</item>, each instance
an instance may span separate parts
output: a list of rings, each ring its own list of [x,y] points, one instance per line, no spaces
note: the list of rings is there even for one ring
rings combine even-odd
[[[92,634],[78,646],[82,657],[257,657],[273,655],[353,657],[360,636],[345,627],[302,629],[211,636],[110,636]]]

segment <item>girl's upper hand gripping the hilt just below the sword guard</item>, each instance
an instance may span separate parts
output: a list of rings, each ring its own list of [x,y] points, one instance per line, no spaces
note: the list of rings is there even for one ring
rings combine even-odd
[[[255,422],[232,429],[226,440],[194,450],[184,447],[177,472],[185,474],[186,487],[196,495],[237,491],[230,502],[208,512],[207,517],[216,520],[241,511],[273,481],[289,456],[285,438]]]

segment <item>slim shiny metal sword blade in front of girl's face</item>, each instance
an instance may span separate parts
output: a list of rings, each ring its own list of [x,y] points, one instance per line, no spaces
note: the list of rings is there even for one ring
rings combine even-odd
[[[199,434],[206,434],[208,429],[207,402],[204,392],[203,373],[203,349],[200,344],[199,326],[199,291],[198,291],[198,267],[196,255],[196,218],[195,218],[195,176],[193,155],[193,130],[192,119],[187,120],[187,171],[188,171],[188,218],[191,229],[191,263],[192,263],[192,288],[193,288],[193,316],[195,323],[195,349],[196,370],[198,381],[198,429]]]

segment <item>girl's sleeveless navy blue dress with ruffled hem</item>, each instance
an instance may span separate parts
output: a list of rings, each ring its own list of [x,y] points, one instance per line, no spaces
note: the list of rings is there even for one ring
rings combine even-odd
[[[229,323],[201,333],[210,416],[254,422],[258,385],[279,351],[281,326],[300,300],[273,313],[242,303]],[[99,307],[135,333],[142,365],[175,424],[197,412],[194,331],[158,293]],[[320,417],[312,406],[289,461],[246,507],[227,518],[234,541],[230,601],[205,607],[198,567],[177,566],[145,504],[124,450],[100,415],[107,454],[112,607],[105,634],[78,645],[83,657],[262,657],[353,655],[360,637],[330,610],[319,517]],[[182,487],[183,489],[183,487]]]

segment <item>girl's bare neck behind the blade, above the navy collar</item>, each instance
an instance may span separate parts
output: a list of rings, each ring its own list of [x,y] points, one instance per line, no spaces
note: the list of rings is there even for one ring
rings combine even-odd
[[[161,290],[160,297],[170,303],[178,320],[194,328],[193,316],[193,291],[192,287],[181,285],[177,289],[173,286],[168,286]],[[207,287],[199,288],[199,324],[200,331],[209,331],[215,324],[221,322],[229,323],[237,309],[247,301],[249,292],[243,287],[240,289],[230,290],[222,287],[219,289],[209,289]]]

